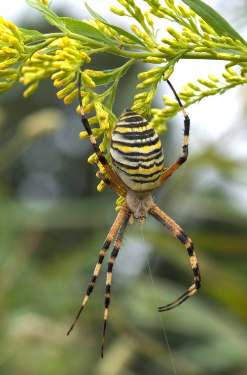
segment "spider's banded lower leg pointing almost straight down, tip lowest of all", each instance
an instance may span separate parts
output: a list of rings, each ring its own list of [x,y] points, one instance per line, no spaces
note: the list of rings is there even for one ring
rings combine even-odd
[[[112,269],[115,259],[119,254],[120,246],[123,242],[124,232],[126,230],[126,226],[128,224],[129,218],[131,215],[131,211],[127,210],[124,214],[124,218],[119,228],[119,232],[113,247],[113,251],[111,253],[111,258],[108,262],[107,267],[107,276],[106,276],[106,294],[105,294],[105,314],[104,314],[104,329],[103,329],[103,336],[102,336],[102,344],[101,344],[101,357],[103,358],[103,351],[104,351],[104,343],[105,343],[105,333],[106,333],[106,323],[107,323],[107,316],[108,316],[108,308],[110,303],[110,292],[111,292],[111,283],[112,283]]]

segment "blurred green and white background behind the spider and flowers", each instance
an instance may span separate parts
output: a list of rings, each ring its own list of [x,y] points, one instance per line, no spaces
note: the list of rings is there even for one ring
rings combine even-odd
[[[71,15],[65,8],[57,12]],[[18,25],[28,27],[24,21]],[[90,69],[120,64],[117,57],[101,55]],[[121,81],[117,116],[131,106],[140,71],[133,68]],[[247,373],[247,89],[236,91],[235,101],[224,95],[217,112],[229,111],[231,118],[237,108],[237,114],[215,137],[208,138],[189,109],[189,159],[155,192],[158,206],[193,239],[202,272],[200,291],[161,314],[180,375]],[[104,360],[106,264],[66,336],[116,217],[117,196],[108,188],[96,190],[99,180],[86,162],[92,150],[79,139],[77,104],[66,107],[49,80],[27,100],[22,92],[16,85],[0,97],[0,374],[174,374],[157,303],[180,296],[193,276],[185,247],[153,218],[143,232],[155,293],[135,223],[127,228],[114,267]],[[208,127],[217,128],[211,107],[217,101],[205,100]],[[157,98],[154,107],[161,105]],[[179,114],[162,136],[166,166],[181,154],[182,122]],[[32,133],[44,124],[57,129]]]

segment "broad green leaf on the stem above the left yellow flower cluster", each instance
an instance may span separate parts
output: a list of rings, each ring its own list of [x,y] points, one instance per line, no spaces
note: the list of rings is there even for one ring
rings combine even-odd
[[[96,41],[101,40],[110,47],[116,47],[114,42],[110,38],[101,33],[101,31],[99,31],[95,27],[87,24],[86,22],[74,20],[73,18],[69,17],[59,17],[58,20],[62,21],[66,26],[66,29],[71,31],[72,33],[79,34],[83,37],[90,38]]]

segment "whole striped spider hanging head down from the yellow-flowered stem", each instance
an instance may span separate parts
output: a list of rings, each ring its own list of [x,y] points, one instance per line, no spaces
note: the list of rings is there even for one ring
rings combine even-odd
[[[113,165],[112,169],[105,156],[100,151],[85,117],[82,108],[81,74],[79,75],[78,95],[82,124],[97,155],[97,161],[93,163],[93,167],[97,171],[99,177],[108,186],[113,188],[121,196],[125,197],[125,202],[106,237],[102,249],[100,250],[98,262],[95,266],[84,300],[82,301],[81,308],[67,333],[67,335],[69,335],[74,328],[82,309],[92,293],[106,251],[109,249],[116,233],[118,232],[107,267],[104,328],[101,344],[102,358],[108,307],[110,303],[113,265],[118,256],[126,227],[128,223],[132,224],[133,218],[137,219],[140,225],[144,225],[147,214],[153,216],[162,225],[164,225],[174,237],[185,245],[190,257],[195,283],[182,296],[178,297],[173,302],[158,307],[158,311],[167,311],[180,305],[182,302],[195,294],[201,286],[199,266],[191,239],[183,231],[183,229],[180,228],[180,226],[178,226],[155,205],[152,195],[152,192],[162,185],[164,181],[187,160],[188,156],[190,119],[169,80],[167,80],[167,83],[175,95],[175,98],[184,115],[183,156],[179,157],[173,164],[171,164],[170,167],[164,168],[164,153],[159,136],[146,119],[144,119],[138,113],[126,109],[119,117],[110,140],[110,155]],[[109,179],[106,178],[99,170],[97,165],[98,162],[103,165],[104,169],[110,176]]]

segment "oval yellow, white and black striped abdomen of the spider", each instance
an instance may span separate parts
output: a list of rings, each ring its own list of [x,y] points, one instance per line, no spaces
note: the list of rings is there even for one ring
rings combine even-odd
[[[164,166],[162,144],[138,113],[124,110],[112,134],[110,153],[115,173],[128,190],[146,193],[159,186]]]

